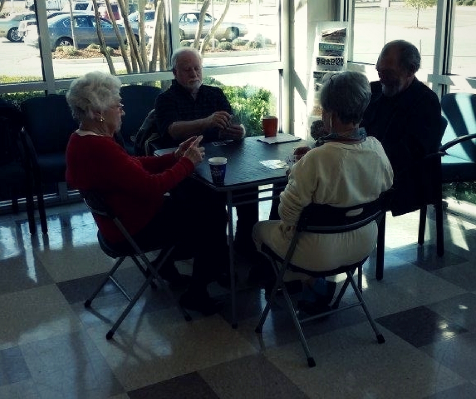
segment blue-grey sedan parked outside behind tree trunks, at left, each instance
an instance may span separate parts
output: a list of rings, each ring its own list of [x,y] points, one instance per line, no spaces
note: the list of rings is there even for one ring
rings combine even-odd
[[[74,18],[74,32],[76,35],[76,46],[78,48],[88,47],[92,43],[99,44],[99,39],[96,32],[96,20],[94,13],[75,13]],[[101,30],[104,35],[106,46],[118,48],[116,34],[112,28],[112,24],[100,18]],[[71,32],[71,19],[69,14],[57,15],[48,19],[48,28],[50,31],[51,49],[54,51],[58,46],[72,46],[73,37]],[[123,43],[127,43],[126,30],[124,26],[119,25],[118,29],[121,33]],[[137,29],[133,30],[136,40],[139,39],[139,32]],[[38,47],[38,33],[34,25],[27,28],[26,36],[24,37],[25,44],[28,46]],[[148,41],[148,37],[146,37]]]

